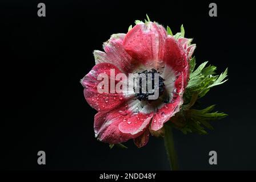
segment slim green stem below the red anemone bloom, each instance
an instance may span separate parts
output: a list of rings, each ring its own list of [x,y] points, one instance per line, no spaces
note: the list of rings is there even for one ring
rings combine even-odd
[[[173,171],[178,170],[178,159],[174,148],[173,132],[171,126],[165,125],[165,149],[169,158],[170,169]]]

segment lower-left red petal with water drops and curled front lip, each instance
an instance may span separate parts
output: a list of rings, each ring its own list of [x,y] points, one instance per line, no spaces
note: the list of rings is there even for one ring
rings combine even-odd
[[[95,136],[105,143],[122,143],[141,135],[151,121],[153,113],[134,114],[127,104],[111,110],[99,112],[94,118]]]

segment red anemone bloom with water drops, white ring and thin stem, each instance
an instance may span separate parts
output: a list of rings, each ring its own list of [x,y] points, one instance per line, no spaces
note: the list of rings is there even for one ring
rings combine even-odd
[[[111,35],[103,43],[104,52],[94,51],[95,66],[82,78],[81,84],[86,101],[98,111],[94,117],[98,140],[113,145],[133,139],[136,146],[143,147],[150,134],[165,135],[163,126],[181,110],[183,93],[188,86],[189,63],[195,50],[191,41],[184,38],[183,26],[181,33],[173,36],[169,27],[166,30],[149,19],[145,22],[137,20],[127,34]],[[117,75],[121,73],[126,78],[118,80]],[[153,92],[147,89],[142,92],[142,79],[135,82],[139,92],[135,92],[135,86],[122,92],[108,88],[109,85],[116,88],[118,81],[131,81],[131,73],[145,75],[147,86],[155,79],[151,75],[157,73],[158,82],[153,84]],[[102,84],[102,74],[107,79],[105,85]],[[99,92],[99,85],[108,92]],[[158,89],[158,97],[150,100],[155,89]],[[166,136],[167,152],[174,160],[175,168],[170,131]]]

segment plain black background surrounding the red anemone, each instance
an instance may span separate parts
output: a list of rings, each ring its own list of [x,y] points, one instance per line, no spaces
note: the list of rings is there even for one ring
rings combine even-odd
[[[37,16],[39,2],[46,17]],[[162,139],[138,149],[113,148],[94,138],[92,109],[79,80],[94,65],[93,50],[111,34],[127,32],[146,18],[179,31],[197,44],[200,64],[229,81],[203,98],[229,116],[213,122],[208,135],[174,131],[181,169],[256,169],[255,19],[246,1],[217,2],[209,16],[203,1],[1,1],[1,169],[169,169]],[[46,152],[46,165],[37,152]],[[208,163],[209,151],[218,165]]]

